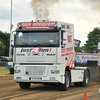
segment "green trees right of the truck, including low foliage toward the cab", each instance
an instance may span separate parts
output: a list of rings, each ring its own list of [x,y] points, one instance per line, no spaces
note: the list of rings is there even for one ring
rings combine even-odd
[[[100,42],[100,28],[95,27],[87,35],[87,40],[84,46],[76,48],[76,52],[93,53],[97,51],[97,44]]]

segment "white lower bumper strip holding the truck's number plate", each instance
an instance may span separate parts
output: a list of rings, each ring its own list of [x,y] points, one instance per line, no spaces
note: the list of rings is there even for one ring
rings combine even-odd
[[[16,82],[31,82],[31,83],[63,83],[64,76],[46,76],[46,77],[25,77],[14,76]]]

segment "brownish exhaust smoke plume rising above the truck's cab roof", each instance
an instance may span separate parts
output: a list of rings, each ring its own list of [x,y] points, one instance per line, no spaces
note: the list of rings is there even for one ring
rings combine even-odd
[[[50,15],[50,7],[58,3],[59,0],[31,0],[31,8],[33,9],[33,16],[35,20],[48,20]]]

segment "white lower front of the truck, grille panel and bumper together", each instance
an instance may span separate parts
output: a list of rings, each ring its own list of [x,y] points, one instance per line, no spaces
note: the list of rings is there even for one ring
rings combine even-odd
[[[31,82],[31,83],[62,83],[63,84],[64,75],[61,74],[60,68],[61,68],[60,65],[15,65],[14,69],[20,71],[19,73],[14,73],[14,81]],[[59,70],[60,73],[52,74],[51,70]],[[28,74],[26,72],[28,72]]]

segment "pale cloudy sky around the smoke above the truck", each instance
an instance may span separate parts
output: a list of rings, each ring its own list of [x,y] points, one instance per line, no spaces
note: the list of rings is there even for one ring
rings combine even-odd
[[[18,22],[36,20],[35,0],[12,0],[12,24],[16,29]],[[42,1],[42,0],[40,0]],[[46,1],[46,0],[43,0]],[[48,0],[47,0],[48,1]],[[53,0],[49,0],[53,2]],[[54,0],[55,1],[55,0]],[[74,24],[74,38],[86,43],[87,35],[100,24],[100,0],[56,0],[47,3],[48,19]],[[46,3],[46,2],[44,2]],[[38,5],[38,7],[43,7]],[[45,10],[45,9],[44,9]],[[10,33],[11,0],[0,0],[0,30]],[[43,17],[43,16],[42,16]]]

